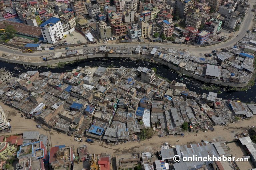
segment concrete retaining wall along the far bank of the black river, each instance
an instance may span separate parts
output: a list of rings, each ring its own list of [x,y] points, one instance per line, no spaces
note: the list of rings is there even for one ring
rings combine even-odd
[[[0,60],[5,62],[11,62],[11,63],[17,63],[17,64],[25,64],[25,65],[33,65],[33,66],[47,66],[52,64],[57,64],[58,62],[70,62],[70,61],[78,61],[82,59],[88,59],[88,58],[103,58],[103,57],[111,57],[111,58],[142,58],[142,59],[153,59],[155,62],[158,62],[162,65],[168,66],[169,68],[174,69],[175,71],[178,71],[186,76],[193,77],[194,79],[203,81],[205,83],[212,83],[212,84],[218,84],[222,86],[230,86],[230,87],[245,87],[248,85],[249,82],[243,83],[243,84],[236,84],[236,83],[229,83],[229,82],[223,82],[218,80],[211,80],[204,77],[201,77],[199,75],[190,73],[180,67],[177,67],[173,65],[172,63],[163,61],[162,59],[158,57],[150,57],[148,55],[133,55],[133,54],[94,54],[94,55],[81,55],[81,56],[74,56],[69,58],[63,58],[60,60],[53,60],[53,61],[47,61],[47,62],[37,62],[37,63],[31,63],[26,61],[18,61],[18,60],[12,60],[0,57]]]

